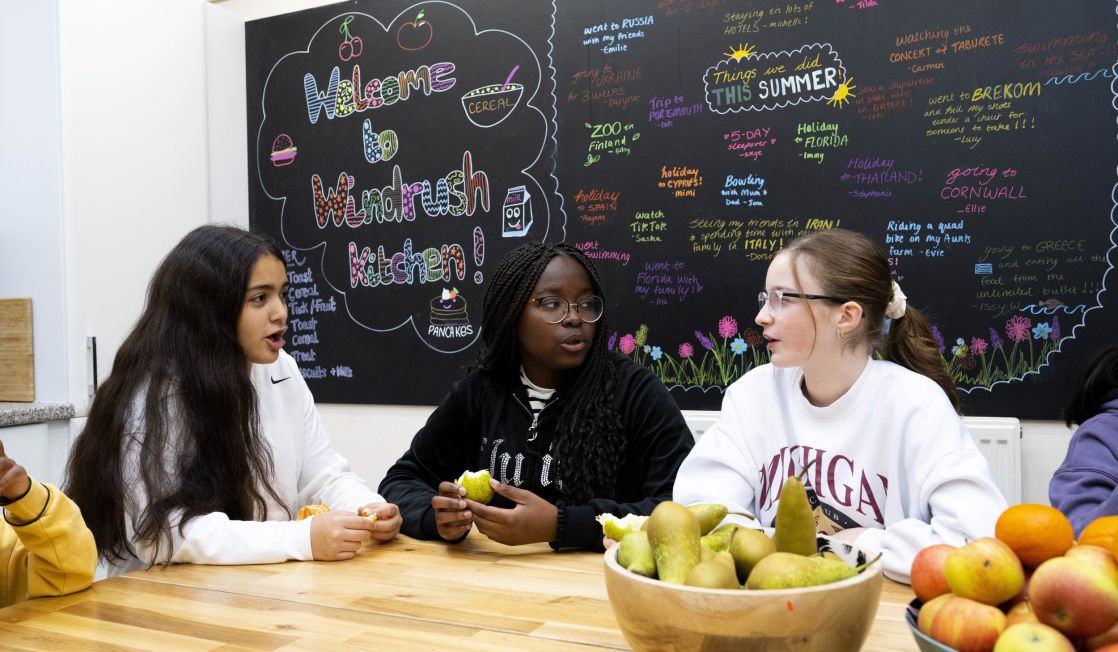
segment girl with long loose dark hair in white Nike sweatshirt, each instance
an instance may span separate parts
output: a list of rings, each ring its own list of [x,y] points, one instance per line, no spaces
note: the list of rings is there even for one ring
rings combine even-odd
[[[192,230],[159,265],[67,469],[111,574],[348,559],[399,530],[282,350],[286,292],[276,245],[234,227]],[[291,520],[315,502],[334,511]]]

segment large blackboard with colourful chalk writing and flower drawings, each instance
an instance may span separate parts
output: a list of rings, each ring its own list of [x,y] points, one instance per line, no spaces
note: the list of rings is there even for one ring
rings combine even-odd
[[[888,248],[974,415],[1053,418],[1114,339],[1116,6],[351,1],[246,23],[250,223],[318,400],[435,404],[486,274],[567,240],[681,407],[764,363],[784,243]],[[1112,281],[1111,281],[1112,282]]]

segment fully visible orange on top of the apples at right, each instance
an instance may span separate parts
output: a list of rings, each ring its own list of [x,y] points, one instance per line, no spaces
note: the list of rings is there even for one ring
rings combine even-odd
[[[1036,503],[1015,504],[1002,512],[994,536],[1031,568],[1062,556],[1076,545],[1076,531],[1068,517],[1054,507]]]

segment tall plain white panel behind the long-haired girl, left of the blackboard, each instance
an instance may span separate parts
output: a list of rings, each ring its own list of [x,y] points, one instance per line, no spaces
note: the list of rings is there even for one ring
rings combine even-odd
[[[209,217],[206,23],[201,0],[58,6],[65,342],[84,414],[85,337],[97,337],[103,379],[152,271]]]

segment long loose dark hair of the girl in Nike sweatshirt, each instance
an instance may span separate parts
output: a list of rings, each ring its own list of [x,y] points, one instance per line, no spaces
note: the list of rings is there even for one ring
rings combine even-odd
[[[155,559],[170,546],[173,510],[182,510],[181,531],[188,519],[215,511],[263,519],[266,495],[283,504],[237,341],[253,265],[266,256],[283,261],[262,235],[208,225],[187,234],[155,270],[67,465],[65,491],[101,558],[133,554],[124,520],[135,509],[126,504],[129,481],[139,481],[148,501],[132,516],[135,539],[154,546]]]

